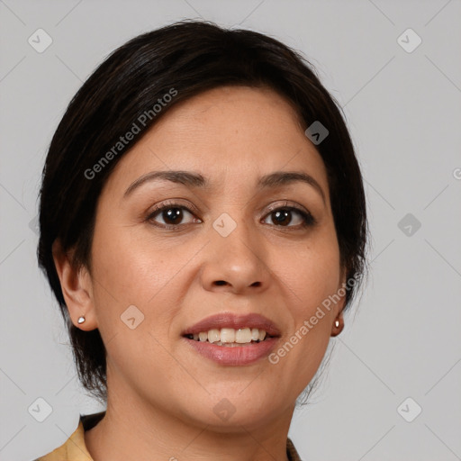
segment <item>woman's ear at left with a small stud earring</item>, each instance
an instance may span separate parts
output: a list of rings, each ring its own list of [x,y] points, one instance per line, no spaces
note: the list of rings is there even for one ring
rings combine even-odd
[[[63,251],[59,240],[52,247],[54,264],[58,272],[64,301],[72,323],[80,330],[90,331],[97,328],[93,283],[86,267],[76,268],[72,265],[73,251]],[[84,316],[81,324],[78,318]]]

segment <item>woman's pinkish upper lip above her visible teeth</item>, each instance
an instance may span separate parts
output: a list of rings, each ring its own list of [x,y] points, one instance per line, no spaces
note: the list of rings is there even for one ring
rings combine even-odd
[[[258,328],[265,330],[270,336],[280,336],[280,330],[273,321],[269,321],[264,315],[258,313],[249,313],[247,315],[237,315],[231,312],[222,312],[195,323],[192,327],[183,331],[183,336],[200,333],[212,329],[221,330],[221,328]]]

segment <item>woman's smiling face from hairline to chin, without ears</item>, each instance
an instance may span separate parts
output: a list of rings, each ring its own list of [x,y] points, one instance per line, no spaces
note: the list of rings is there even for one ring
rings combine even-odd
[[[88,280],[109,399],[226,430],[291,416],[343,305],[322,302],[344,279],[326,170],[285,99],[220,87],[165,114],[104,185]],[[264,316],[278,336],[233,350],[185,337],[216,314]]]

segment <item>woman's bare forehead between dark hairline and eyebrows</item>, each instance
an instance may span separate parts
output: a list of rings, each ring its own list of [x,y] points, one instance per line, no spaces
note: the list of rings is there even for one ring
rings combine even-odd
[[[110,182],[149,170],[200,171],[210,183],[302,169],[328,188],[294,107],[268,88],[224,86],[177,104],[119,161]]]

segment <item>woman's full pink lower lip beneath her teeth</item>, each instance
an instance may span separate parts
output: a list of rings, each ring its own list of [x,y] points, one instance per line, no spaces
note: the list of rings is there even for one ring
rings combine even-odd
[[[208,341],[185,340],[203,357],[212,361],[229,366],[249,365],[267,357],[276,346],[278,338],[267,338],[261,342],[249,343],[245,346],[216,346]]]

